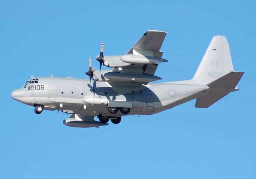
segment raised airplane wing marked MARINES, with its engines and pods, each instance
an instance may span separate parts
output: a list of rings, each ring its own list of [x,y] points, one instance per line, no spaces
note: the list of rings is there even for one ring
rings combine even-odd
[[[103,47],[102,60],[104,66],[113,68],[106,72],[95,70],[93,79],[97,81],[110,82],[137,82],[148,84],[162,78],[154,76],[156,68],[161,62],[168,60],[161,58],[163,52],[160,51],[167,32],[148,30],[136,42],[134,46],[121,56],[104,56]]]

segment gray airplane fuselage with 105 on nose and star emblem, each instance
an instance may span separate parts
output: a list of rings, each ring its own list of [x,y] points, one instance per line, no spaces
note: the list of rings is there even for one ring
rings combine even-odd
[[[122,116],[120,111],[110,113],[108,106],[130,107],[126,115],[150,115],[170,109],[207,93],[205,85],[186,83],[136,84],[97,82],[87,79],[41,77],[37,83],[28,80],[12,97],[27,105],[41,105],[47,110],[82,113],[96,116]],[[35,81],[35,80],[34,80]],[[186,81],[184,81],[186,82]],[[24,88],[26,86],[26,88]]]

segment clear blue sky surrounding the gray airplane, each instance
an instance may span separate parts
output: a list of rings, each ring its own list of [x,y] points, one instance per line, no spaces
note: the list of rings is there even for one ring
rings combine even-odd
[[[255,1],[0,0],[0,178],[256,178]],[[168,32],[160,82],[192,78],[212,36],[228,38],[240,91],[118,125],[72,128],[67,114],[10,97],[34,76],[85,78],[88,58],[125,54],[146,30]]]

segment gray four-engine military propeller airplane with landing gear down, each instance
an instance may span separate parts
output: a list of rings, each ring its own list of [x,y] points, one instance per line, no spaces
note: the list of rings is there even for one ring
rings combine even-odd
[[[159,63],[168,62],[160,51],[166,32],[148,30],[127,52],[104,56],[101,44],[100,70],[89,59],[88,79],[32,77],[12,98],[34,106],[37,114],[61,110],[71,114],[63,123],[70,127],[99,127],[120,123],[123,115],[151,115],[192,99],[195,107],[209,107],[228,93],[237,91],[244,72],[234,72],[228,41],[214,36],[191,80],[150,83]],[[102,64],[111,68],[101,70]],[[95,121],[94,117],[99,121]]]

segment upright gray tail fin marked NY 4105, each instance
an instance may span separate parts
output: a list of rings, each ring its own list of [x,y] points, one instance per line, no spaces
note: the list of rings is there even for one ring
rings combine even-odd
[[[228,40],[214,36],[192,80],[206,85],[233,71]]]

